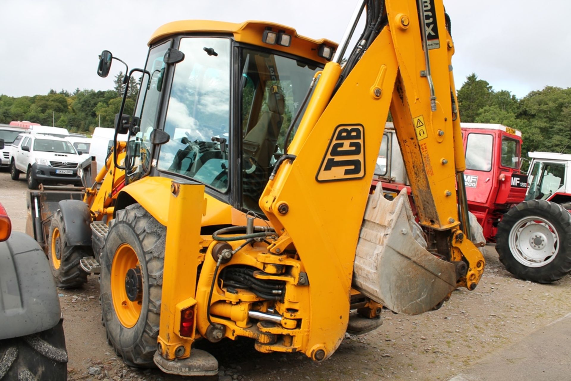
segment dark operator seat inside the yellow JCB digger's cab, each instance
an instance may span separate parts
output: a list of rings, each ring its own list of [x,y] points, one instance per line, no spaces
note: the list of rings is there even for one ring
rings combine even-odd
[[[243,141],[244,151],[264,169],[270,167],[284,120],[285,99],[281,87],[271,86],[266,102],[268,111],[262,113],[258,123],[248,131]]]

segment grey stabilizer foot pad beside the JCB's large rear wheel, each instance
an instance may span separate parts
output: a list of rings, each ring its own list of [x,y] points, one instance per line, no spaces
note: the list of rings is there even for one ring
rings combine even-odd
[[[218,360],[207,351],[192,348],[190,357],[169,361],[155,352],[156,366],[165,373],[181,376],[215,376],[218,374]]]

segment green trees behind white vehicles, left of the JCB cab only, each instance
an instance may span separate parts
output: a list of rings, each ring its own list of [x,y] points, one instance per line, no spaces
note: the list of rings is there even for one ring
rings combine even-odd
[[[64,127],[70,132],[91,133],[98,127],[113,127],[119,113],[124,75],[115,75],[114,89],[105,91],[50,90],[47,95],[10,97],[0,95],[0,123],[30,121],[44,126]],[[139,83],[131,78],[124,113],[132,115]]]

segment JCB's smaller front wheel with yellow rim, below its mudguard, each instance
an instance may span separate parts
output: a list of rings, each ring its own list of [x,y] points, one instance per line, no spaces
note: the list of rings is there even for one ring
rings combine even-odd
[[[84,256],[90,255],[90,247],[67,244],[66,228],[59,209],[51,217],[50,237],[47,245],[47,257],[56,286],[77,288],[87,282],[87,272],[83,271],[79,261]]]

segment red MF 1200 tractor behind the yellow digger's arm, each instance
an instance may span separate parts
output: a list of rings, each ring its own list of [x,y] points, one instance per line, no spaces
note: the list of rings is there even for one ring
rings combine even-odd
[[[518,278],[540,283],[553,282],[569,274],[571,214],[557,200],[546,200],[553,198],[554,191],[542,192],[557,188],[561,194],[565,177],[557,177],[558,173],[550,170],[561,171],[560,167],[549,160],[535,165],[538,159],[533,158],[530,166],[532,189],[528,192],[528,175],[520,170],[520,131],[484,123],[461,123],[461,127],[468,208],[481,225],[486,241],[496,242],[496,250],[506,269]],[[392,123],[387,123],[373,177],[373,189],[381,182],[385,197],[389,199],[403,187],[407,187],[410,194],[394,134]],[[536,174],[538,171],[541,173]],[[561,203],[566,201],[571,201],[571,196],[561,199]]]

